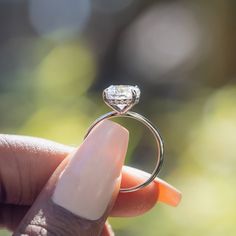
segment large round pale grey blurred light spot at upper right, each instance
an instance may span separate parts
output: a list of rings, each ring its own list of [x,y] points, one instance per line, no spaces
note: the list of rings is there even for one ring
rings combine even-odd
[[[147,79],[161,80],[197,54],[200,28],[191,9],[180,4],[152,6],[124,36],[121,60]]]

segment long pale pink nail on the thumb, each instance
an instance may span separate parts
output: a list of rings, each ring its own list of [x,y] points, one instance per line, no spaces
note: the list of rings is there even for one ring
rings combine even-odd
[[[77,216],[99,219],[120,183],[128,136],[125,128],[111,121],[95,127],[59,177],[53,202]]]

